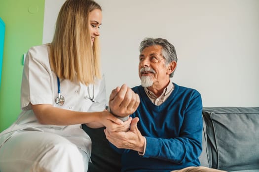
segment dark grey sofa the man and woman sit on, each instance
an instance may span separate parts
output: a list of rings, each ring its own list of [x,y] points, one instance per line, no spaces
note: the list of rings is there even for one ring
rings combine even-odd
[[[259,172],[259,107],[203,108],[202,166],[228,172]],[[120,172],[103,129],[82,128],[92,139],[88,172]]]

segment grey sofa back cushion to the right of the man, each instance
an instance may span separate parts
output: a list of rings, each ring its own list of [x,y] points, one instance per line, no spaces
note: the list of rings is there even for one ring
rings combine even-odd
[[[204,108],[206,154],[225,171],[259,169],[259,107]]]

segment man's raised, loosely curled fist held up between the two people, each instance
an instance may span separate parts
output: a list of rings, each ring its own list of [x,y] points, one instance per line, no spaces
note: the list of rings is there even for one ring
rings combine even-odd
[[[120,117],[133,114],[140,104],[139,95],[123,84],[111,91],[109,107],[113,115]]]

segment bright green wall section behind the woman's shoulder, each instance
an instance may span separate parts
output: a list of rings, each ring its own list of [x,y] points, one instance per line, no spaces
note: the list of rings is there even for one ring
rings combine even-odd
[[[0,0],[5,23],[0,85],[0,132],[20,114],[23,54],[42,43],[45,0]]]

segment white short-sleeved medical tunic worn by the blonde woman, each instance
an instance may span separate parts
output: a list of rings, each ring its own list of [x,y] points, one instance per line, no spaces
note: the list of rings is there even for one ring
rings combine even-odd
[[[91,140],[81,129],[80,124],[69,126],[42,125],[38,122],[30,102],[33,105],[51,104],[71,111],[103,111],[106,105],[104,76],[101,80],[96,80],[94,86],[90,85],[89,89],[79,82],[72,83],[69,80],[61,79],[60,92],[65,98],[65,103],[63,106],[59,106],[55,103],[55,98],[58,97],[58,84],[57,76],[50,68],[49,51],[48,45],[32,47],[28,51],[21,86],[22,112],[9,128],[0,133],[0,147],[17,132],[54,132],[74,143],[79,149],[86,152],[90,159]],[[89,99],[89,96],[92,98],[93,94],[94,102]]]

